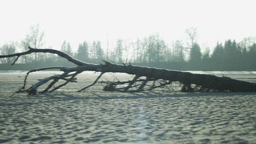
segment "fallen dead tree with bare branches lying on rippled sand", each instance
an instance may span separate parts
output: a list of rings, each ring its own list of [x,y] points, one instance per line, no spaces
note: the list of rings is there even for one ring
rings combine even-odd
[[[232,91],[232,92],[255,92],[256,91],[256,83],[246,82],[242,80],[236,80],[229,77],[219,77],[210,74],[192,74],[190,72],[181,72],[176,70],[166,70],[166,69],[158,69],[158,68],[148,68],[142,66],[133,66],[132,64],[123,65],[120,64],[112,64],[110,62],[104,61],[105,64],[88,64],[86,62],[82,62],[80,60],[74,59],[72,56],[52,49],[34,49],[28,47],[29,50],[26,52],[16,53],[16,54],[9,54],[9,55],[2,55],[0,58],[8,58],[8,57],[16,57],[15,62],[20,58],[22,55],[31,54],[31,53],[52,53],[57,54],[63,58],[66,58],[68,61],[76,64],[76,67],[47,67],[47,68],[39,68],[30,70],[24,79],[24,85],[18,92],[28,92],[29,94],[36,94],[37,88],[46,84],[46,82],[52,81],[48,84],[47,88],[39,93],[45,92],[53,92],[58,90],[62,86],[65,86],[69,82],[77,82],[76,76],[84,71],[94,71],[100,72],[100,75],[96,80],[89,86],[78,90],[81,92],[86,88],[89,88],[96,84],[101,76],[106,72],[120,72],[120,73],[127,73],[134,75],[132,80],[128,80],[126,82],[103,82],[106,83],[107,86],[104,87],[104,90],[113,90],[113,91],[120,91],[120,92],[141,92],[145,90],[145,86],[148,86],[148,90],[152,90],[154,88],[161,88],[165,86],[170,86],[172,82],[180,82],[182,85],[182,92],[194,92],[194,91],[201,91],[201,92],[209,92],[210,90],[214,91]],[[26,80],[28,75],[31,72],[37,72],[42,70],[50,70],[50,69],[59,69],[63,71],[60,75],[54,75],[42,80],[39,80],[36,84],[31,86],[30,88],[26,89]],[[142,78],[144,77],[144,78]],[[54,86],[59,80],[65,80],[66,82],[60,84],[58,86]],[[140,84],[137,84],[140,82]],[[148,83],[151,82],[149,85]],[[118,84],[127,84],[125,87],[116,88],[115,86]],[[193,84],[193,86],[192,86]]]

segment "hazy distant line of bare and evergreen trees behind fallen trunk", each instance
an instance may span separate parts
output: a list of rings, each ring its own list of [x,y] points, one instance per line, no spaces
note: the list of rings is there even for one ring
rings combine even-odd
[[[107,60],[113,63],[133,63],[142,66],[162,67],[177,70],[256,70],[256,37],[244,38],[242,42],[226,40],[224,44],[217,42],[213,52],[196,42],[196,28],[186,29],[190,42],[182,40],[166,43],[159,34],[151,34],[143,39],[126,40],[118,38],[112,45],[102,48],[100,41],[84,41],[78,45],[76,52],[72,51],[69,42],[62,43],[60,50],[90,63],[100,63]],[[28,46],[44,47],[44,31],[39,25],[31,26],[24,40],[10,42],[0,47],[1,55],[25,52]],[[51,48],[51,47],[49,47]],[[1,64],[11,64],[15,58],[2,58]],[[66,64],[66,60],[53,54],[30,54],[19,59],[18,64]]]

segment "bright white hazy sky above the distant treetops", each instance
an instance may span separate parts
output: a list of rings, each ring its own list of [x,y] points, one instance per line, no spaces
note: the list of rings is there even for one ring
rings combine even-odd
[[[185,29],[198,28],[200,45],[241,41],[256,36],[255,0],[1,0],[0,46],[20,42],[30,26],[45,31],[45,47],[73,50],[84,40],[106,47],[116,38],[159,33],[167,43],[187,40]]]

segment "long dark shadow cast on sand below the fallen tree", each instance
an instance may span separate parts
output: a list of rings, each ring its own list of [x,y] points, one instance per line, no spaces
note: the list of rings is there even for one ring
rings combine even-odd
[[[252,95],[252,92],[140,92],[140,93],[120,93],[120,92],[58,92],[38,95],[28,94],[12,94],[11,97],[22,97],[26,102],[0,102],[0,106],[10,105],[27,105],[27,104],[42,104],[72,100],[122,100],[122,99],[151,99],[151,98],[202,98],[202,97],[233,97]]]

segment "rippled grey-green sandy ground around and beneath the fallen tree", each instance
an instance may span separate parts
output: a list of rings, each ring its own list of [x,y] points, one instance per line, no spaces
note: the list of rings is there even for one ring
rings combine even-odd
[[[0,74],[0,143],[256,144],[256,93],[76,92],[88,73],[53,93],[14,93],[24,75]]]

